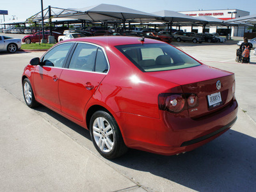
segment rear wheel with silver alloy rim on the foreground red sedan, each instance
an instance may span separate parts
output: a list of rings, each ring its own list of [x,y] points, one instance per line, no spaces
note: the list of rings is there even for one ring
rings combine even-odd
[[[106,159],[115,159],[127,152],[115,118],[106,111],[96,111],[92,115],[90,135],[94,147]]]

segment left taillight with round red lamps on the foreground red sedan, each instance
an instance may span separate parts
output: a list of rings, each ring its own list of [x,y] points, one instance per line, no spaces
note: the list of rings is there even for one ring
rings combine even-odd
[[[160,110],[180,113],[198,106],[198,98],[194,93],[161,93],[158,96],[158,105]]]

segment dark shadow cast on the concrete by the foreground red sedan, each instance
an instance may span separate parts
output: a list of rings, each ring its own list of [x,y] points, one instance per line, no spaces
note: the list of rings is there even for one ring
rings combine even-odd
[[[38,106],[35,110],[47,113],[61,124],[91,140],[88,130],[51,109]],[[140,171],[141,174],[145,174],[145,178],[149,172],[196,191],[256,189],[256,138],[232,129],[210,143],[179,156],[161,156],[129,149],[124,156],[106,161],[113,167],[124,167],[125,171],[126,168]]]

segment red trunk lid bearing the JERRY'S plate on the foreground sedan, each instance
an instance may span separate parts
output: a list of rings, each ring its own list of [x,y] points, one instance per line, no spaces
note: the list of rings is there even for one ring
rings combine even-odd
[[[180,84],[184,93],[197,95],[198,105],[188,109],[190,117],[196,118],[212,113],[227,105],[234,96],[232,93],[234,74],[207,65],[148,74]],[[219,84],[220,90],[217,88],[218,81],[221,84]]]

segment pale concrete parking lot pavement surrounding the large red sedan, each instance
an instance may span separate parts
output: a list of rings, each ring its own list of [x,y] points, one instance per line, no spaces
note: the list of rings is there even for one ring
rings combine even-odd
[[[131,149],[113,161],[97,153],[82,127],[44,106],[26,106],[22,70],[43,52],[0,52],[1,191],[255,191],[256,57],[250,64],[236,63],[234,41],[174,45],[236,74],[236,124],[186,154]]]

